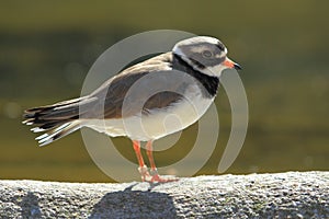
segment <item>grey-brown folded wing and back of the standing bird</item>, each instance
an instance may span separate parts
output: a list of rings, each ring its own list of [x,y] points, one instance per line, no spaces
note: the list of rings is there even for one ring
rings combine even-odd
[[[188,88],[188,83],[170,77],[171,60],[171,53],[167,53],[122,71],[89,96],[97,97],[98,102],[86,106],[82,104],[89,111],[81,116],[120,118],[123,111],[124,116],[132,116],[140,111],[148,113],[178,102],[182,99],[180,93]]]

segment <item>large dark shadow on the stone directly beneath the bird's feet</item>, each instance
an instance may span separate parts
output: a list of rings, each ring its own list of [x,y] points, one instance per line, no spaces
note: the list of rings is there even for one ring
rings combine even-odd
[[[169,194],[154,192],[159,184],[150,184],[147,191],[133,191],[133,184],[124,191],[105,194],[90,215],[93,218],[175,218],[177,210]]]

